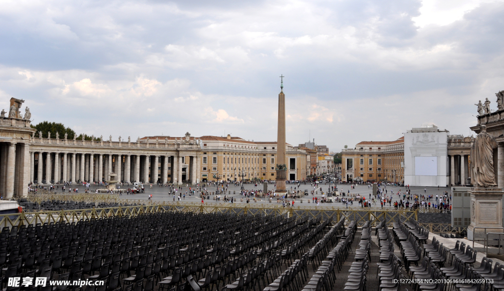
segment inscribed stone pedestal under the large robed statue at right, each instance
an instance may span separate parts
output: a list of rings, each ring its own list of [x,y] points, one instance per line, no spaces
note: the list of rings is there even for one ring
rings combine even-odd
[[[484,244],[487,233],[502,233],[502,194],[500,188],[471,188],[471,224],[467,239]],[[485,228],[485,229],[484,229]]]

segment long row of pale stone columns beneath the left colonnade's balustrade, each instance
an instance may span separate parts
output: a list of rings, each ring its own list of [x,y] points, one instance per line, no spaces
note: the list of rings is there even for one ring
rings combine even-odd
[[[30,181],[38,184],[58,182],[99,182],[118,180],[143,183],[199,182],[198,156],[30,152]],[[183,163],[183,158],[186,162]],[[185,170],[185,177],[184,175]],[[111,176],[110,174],[115,174]],[[184,179],[185,178],[185,179]]]

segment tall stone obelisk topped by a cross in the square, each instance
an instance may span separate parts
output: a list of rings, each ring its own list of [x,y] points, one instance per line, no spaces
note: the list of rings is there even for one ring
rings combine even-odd
[[[277,136],[277,178],[276,193],[283,194],[285,180],[287,178],[287,166],[285,164],[285,94],[283,93],[283,76],[280,76],[280,94],[278,94],[278,136]]]

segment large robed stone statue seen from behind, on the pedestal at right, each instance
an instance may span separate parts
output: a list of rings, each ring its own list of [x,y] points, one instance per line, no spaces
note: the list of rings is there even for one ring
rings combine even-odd
[[[479,128],[480,133],[471,148],[471,182],[474,187],[497,186],[493,171],[493,150],[497,148],[497,141],[486,132],[486,125]]]

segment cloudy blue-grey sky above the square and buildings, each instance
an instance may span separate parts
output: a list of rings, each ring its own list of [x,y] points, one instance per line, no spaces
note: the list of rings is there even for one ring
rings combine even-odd
[[[95,136],[232,134],[331,151],[436,124],[470,135],[504,90],[504,1],[0,2],[0,107]]]

